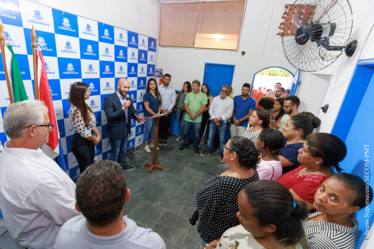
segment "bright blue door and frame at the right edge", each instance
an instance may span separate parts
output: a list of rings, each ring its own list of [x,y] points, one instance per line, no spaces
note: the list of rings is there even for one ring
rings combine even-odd
[[[358,61],[331,129],[331,133],[342,139],[347,146],[347,156],[339,163],[341,168],[346,173],[360,176],[372,188],[374,187],[374,175],[369,167],[369,157],[365,157],[368,156],[368,154],[365,155],[365,149],[368,149],[367,152],[369,152],[369,145],[374,141],[374,132],[371,129],[374,117],[368,114],[370,106],[373,106],[371,97],[373,93],[374,60]],[[356,248],[360,248],[363,243],[368,243],[366,242],[369,239],[367,233],[374,222],[374,215],[371,211],[373,208],[372,202],[356,212],[359,221]]]

